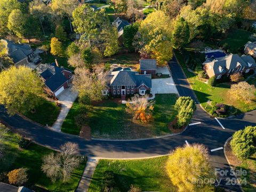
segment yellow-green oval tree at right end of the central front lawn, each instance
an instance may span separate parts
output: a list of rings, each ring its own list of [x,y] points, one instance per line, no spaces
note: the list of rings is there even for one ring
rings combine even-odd
[[[177,127],[181,128],[189,123],[196,110],[196,105],[190,97],[179,97],[175,103],[175,109],[178,111]]]

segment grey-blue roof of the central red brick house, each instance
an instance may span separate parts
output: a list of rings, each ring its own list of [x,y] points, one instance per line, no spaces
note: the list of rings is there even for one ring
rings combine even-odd
[[[151,75],[140,75],[135,71],[113,71],[111,75],[107,76],[109,86],[136,86],[139,87],[145,84],[151,88]]]

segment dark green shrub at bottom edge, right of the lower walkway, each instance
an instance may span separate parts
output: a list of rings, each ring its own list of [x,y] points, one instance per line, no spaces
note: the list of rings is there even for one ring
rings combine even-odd
[[[120,189],[116,185],[115,175],[113,171],[105,171],[102,178],[101,192],[119,192]]]

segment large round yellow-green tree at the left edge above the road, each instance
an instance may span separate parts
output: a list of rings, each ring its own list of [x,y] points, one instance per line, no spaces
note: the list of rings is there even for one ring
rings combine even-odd
[[[42,81],[27,67],[11,67],[0,74],[0,103],[8,113],[26,113],[38,105]]]

